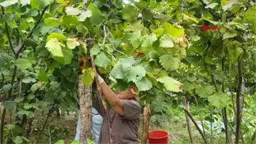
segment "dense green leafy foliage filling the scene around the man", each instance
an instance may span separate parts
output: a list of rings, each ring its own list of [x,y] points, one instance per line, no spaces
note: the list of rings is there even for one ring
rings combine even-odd
[[[0,5],[1,143],[63,139],[58,133],[67,131],[50,124],[52,114],[59,107],[76,109],[79,75],[85,85],[93,83],[90,55],[113,89],[137,87],[141,104],[151,105],[152,125],[169,117],[185,121],[186,96],[190,114],[203,123],[204,143],[253,143],[254,0],[1,0]],[[201,31],[201,25],[220,30]],[[163,127],[181,121],[172,122]],[[226,140],[217,141],[220,135]]]

